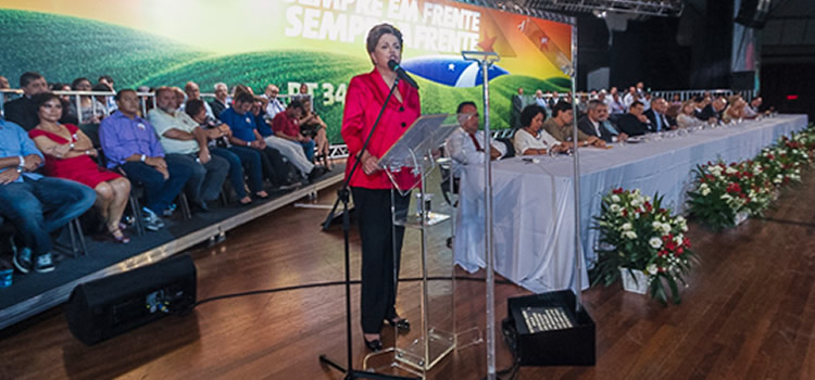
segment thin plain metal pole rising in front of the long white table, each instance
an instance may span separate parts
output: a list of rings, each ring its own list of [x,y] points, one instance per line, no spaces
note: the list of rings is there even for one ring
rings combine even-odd
[[[580,156],[579,149],[577,148],[577,23],[572,25],[572,67],[568,73],[572,77],[572,93],[575,94],[572,99],[572,113],[574,115],[572,121],[572,141],[575,144],[575,176],[574,176],[574,188],[575,188],[575,311],[579,312],[582,307],[582,266],[580,265],[580,258],[582,258],[582,250],[580,249]]]

